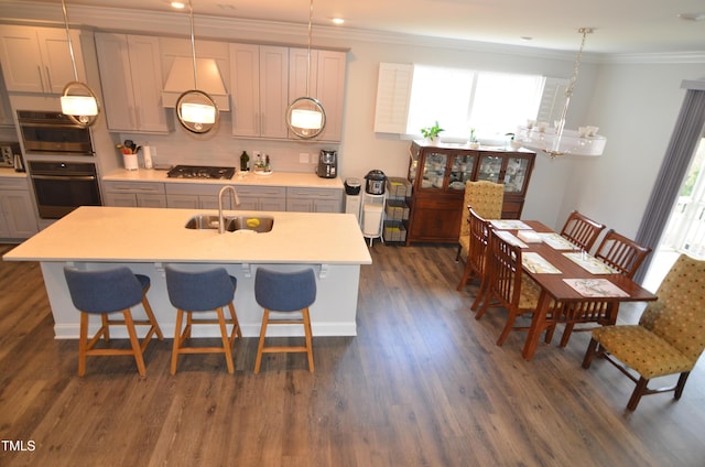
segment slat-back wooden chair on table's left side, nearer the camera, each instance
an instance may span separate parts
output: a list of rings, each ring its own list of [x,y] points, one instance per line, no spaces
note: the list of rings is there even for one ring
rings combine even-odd
[[[497,345],[501,346],[512,329],[529,329],[529,326],[514,327],[514,322],[520,315],[535,312],[541,290],[533,280],[522,273],[521,248],[505,241],[491,228],[486,258],[487,296],[475,319],[480,319],[489,306],[506,308],[509,315],[497,339]]]

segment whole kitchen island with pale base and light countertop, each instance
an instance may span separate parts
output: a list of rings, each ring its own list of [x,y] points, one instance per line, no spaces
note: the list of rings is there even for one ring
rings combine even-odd
[[[227,216],[270,216],[272,230],[218,234],[217,229],[186,229],[194,215],[216,210],[83,206],[3,256],[6,261],[39,261],[54,315],[56,338],[78,338],[79,313],[73,306],[64,265],[91,270],[128,265],[149,275],[148,297],[166,336],[176,312],[169,302],[164,264],[195,270],[221,265],[238,279],[235,294],[242,334],[258,336],[262,308],[254,301],[254,272],[314,268],[317,296],[311,306],[314,336],[357,335],[356,313],[361,264],[372,262],[354,215],[322,213],[243,213]],[[140,305],[141,306],[141,305]],[[135,316],[143,311],[137,306]],[[217,326],[202,326],[194,336],[219,336]],[[91,322],[97,330],[98,321]],[[123,337],[116,328],[115,336]],[[300,326],[279,335],[303,335]]]

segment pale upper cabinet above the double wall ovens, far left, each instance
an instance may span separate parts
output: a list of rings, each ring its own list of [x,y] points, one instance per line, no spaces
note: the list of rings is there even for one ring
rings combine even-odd
[[[79,33],[70,35],[78,79],[85,83]],[[76,80],[65,29],[0,25],[0,63],[9,91],[62,94]]]

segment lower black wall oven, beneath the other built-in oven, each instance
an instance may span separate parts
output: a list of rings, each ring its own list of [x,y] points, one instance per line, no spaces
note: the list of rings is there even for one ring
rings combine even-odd
[[[30,161],[36,207],[43,219],[58,219],[79,206],[100,206],[96,164]]]

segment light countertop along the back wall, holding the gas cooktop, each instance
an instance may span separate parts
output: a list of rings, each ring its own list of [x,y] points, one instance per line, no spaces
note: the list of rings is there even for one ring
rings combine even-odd
[[[252,185],[252,186],[293,186],[310,188],[340,188],[343,182],[339,177],[321,178],[316,174],[295,172],[273,172],[270,175],[258,175],[254,173],[238,172],[231,180],[205,180],[205,178],[169,178],[167,171],[156,171],[153,169],[139,169],[137,171],[126,171],[118,169],[102,176],[104,181],[113,182],[164,182],[164,183],[198,183],[217,185]]]

